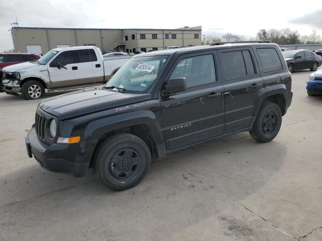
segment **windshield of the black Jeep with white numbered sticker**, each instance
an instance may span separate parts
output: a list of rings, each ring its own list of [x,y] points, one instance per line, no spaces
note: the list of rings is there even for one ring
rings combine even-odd
[[[126,93],[147,92],[165,66],[168,57],[131,58],[113,75],[105,87],[123,88]]]

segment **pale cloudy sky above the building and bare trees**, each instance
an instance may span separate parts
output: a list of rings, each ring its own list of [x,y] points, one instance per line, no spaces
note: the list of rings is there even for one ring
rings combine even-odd
[[[298,2],[298,3],[297,3]],[[318,1],[317,1],[318,2]],[[317,3],[315,1],[315,3]],[[202,34],[255,37],[260,29],[290,28],[322,36],[322,5],[303,1],[0,0],[0,52],[13,49],[19,27],[156,28],[202,26]]]

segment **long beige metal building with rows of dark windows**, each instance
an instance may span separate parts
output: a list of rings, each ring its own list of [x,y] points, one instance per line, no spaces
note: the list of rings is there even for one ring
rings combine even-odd
[[[70,29],[13,27],[15,52],[45,54],[50,49],[94,45],[106,52],[163,50],[201,45],[201,26],[180,29]]]

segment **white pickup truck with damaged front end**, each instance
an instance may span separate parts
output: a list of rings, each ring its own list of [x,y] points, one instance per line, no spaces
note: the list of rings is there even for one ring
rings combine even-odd
[[[45,89],[75,89],[107,82],[130,58],[104,58],[95,46],[57,48],[37,61],[5,67],[0,76],[7,94],[38,99],[45,95]]]

